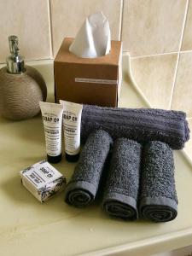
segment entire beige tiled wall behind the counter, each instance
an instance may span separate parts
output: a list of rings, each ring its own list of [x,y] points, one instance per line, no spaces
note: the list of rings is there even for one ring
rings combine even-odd
[[[8,36],[27,60],[51,59],[66,36],[98,10],[112,38],[131,54],[138,86],[154,108],[183,109],[192,118],[192,0],[0,0],[0,62]]]

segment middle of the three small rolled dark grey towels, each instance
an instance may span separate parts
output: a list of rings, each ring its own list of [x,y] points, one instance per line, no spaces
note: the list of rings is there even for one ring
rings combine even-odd
[[[119,138],[113,143],[102,201],[102,207],[109,215],[137,219],[140,162],[141,144],[126,138]]]

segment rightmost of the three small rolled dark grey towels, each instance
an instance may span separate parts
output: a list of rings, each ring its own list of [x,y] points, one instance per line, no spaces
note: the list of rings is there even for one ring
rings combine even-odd
[[[139,209],[142,218],[166,222],[177,217],[172,149],[150,142],[143,150]]]

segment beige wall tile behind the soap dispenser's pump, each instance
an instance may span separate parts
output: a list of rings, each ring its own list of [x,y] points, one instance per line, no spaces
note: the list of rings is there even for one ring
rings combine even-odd
[[[0,0],[0,62],[9,55],[8,37],[20,39],[27,60],[51,56],[49,3],[45,0]]]

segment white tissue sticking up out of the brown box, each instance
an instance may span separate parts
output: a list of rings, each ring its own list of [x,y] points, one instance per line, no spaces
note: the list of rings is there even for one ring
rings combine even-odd
[[[82,58],[107,55],[111,49],[111,32],[108,19],[98,12],[84,21],[69,50]]]

